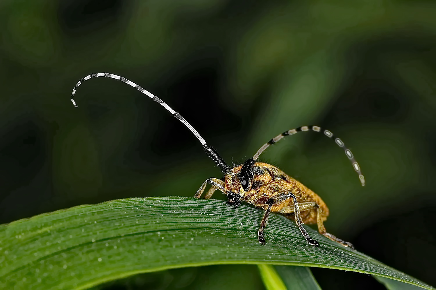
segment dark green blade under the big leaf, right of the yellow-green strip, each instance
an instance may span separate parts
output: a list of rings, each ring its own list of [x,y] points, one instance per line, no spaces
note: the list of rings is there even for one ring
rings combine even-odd
[[[308,267],[274,266],[288,290],[321,290]],[[390,280],[390,279],[389,279]]]

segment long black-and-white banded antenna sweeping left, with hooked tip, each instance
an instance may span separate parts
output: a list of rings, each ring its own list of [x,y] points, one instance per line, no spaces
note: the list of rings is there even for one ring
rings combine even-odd
[[[93,77],[110,77],[110,78],[115,79],[115,80],[121,80],[123,83],[127,83],[129,86],[132,86],[132,87],[136,88],[136,90],[139,90],[141,93],[147,95],[153,101],[156,101],[157,103],[159,103],[162,107],[165,107],[165,109],[167,109],[168,112],[170,112],[174,117],[176,117],[177,120],[181,121],[189,130],[191,130],[191,132],[194,134],[194,136],[197,137],[197,139],[200,141],[201,145],[203,145],[203,148],[204,148],[204,151],[206,152],[206,154],[208,154],[208,156],[211,157],[212,160],[214,160],[216,165],[218,165],[218,167],[221,168],[222,172],[225,173],[229,169],[229,166],[227,165],[227,163],[224,162],[224,160],[221,158],[221,156],[218,155],[218,153],[215,151],[215,149],[212,146],[210,146],[210,145],[208,145],[208,143],[206,143],[206,141],[203,139],[203,137],[201,137],[201,135],[197,132],[197,130],[195,130],[194,127],[192,127],[192,125],[187,122],[187,120],[185,120],[179,113],[177,113],[176,111],[171,109],[171,107],[168,106],[167,103],[165,103],[163,100],[160,100],[158,97],[156,97],[155,95],[153,95],[149,91],[144,90],[142,87],[140,87],[136,83],[133,83],[132,81],[127,80],[124,77],[120,77],[120,76],[117,76],[117,75],[112,74],[112,73],[92,73],[92,74],[84,77],[82,80],[79,80],[79,82],[75,85],[73,92],[71,93],[71,102],[73,103],[74,107],[77,108],[77,104],[74,101],[74,95],[76,93],[77,88],[85,80],[89,80]]]

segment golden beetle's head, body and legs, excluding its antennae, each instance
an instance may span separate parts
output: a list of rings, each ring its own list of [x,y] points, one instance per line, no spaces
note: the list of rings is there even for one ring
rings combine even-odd
[[[309,236],[303,223],[317,223],[320,234],[354,249],[351,243],[327,233],[324,221],[327,220],[329,210],[321,197],[271,164],[251,158],[244,164],[228,168],[222,180],[209,178],[204,181],[194,197],[201,197],[207,183],[212,187],[206,193],[206,199],[211,198],[218,189],[227,195],[228,203],[235,208],[245,201],[265,210],[258,231],[259,243],[262,245],[266,243],[263,230],[269,214],[276,212],[295,220],[296,226],[310,245],[318,246],[319,243]]]

